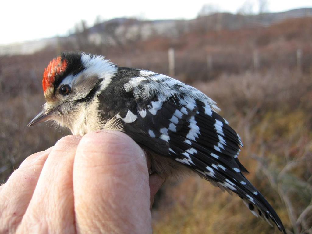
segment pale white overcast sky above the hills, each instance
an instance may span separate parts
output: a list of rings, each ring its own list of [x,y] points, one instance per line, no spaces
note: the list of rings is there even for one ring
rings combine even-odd
[[[255,10],[257,0],[254,2]],[[66,36],[68,30],[82,19],[89,26],[96,16],[103,20],[116,17],[143,19],[192,19],[204,4],[217,6],[220,12],[236,13],[246,0],[3,0],[0,4],[0,44],[36,40],[56,35]],[[268,0],[270,12],[312,7],[311,0]]]

